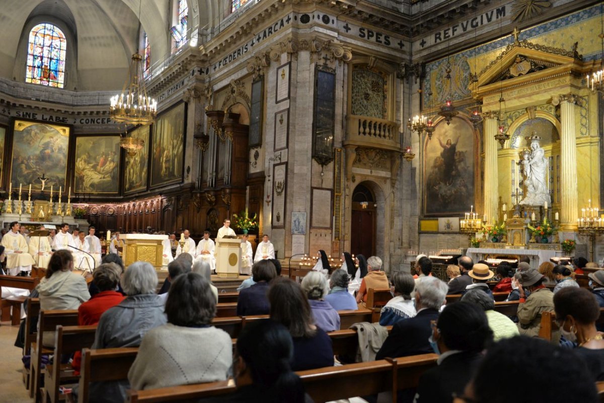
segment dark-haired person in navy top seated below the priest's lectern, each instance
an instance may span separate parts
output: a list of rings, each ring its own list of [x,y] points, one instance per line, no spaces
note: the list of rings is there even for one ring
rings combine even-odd
[[[239,291],[237,316],[266,315],[271,311],[267,297],[269,282],[277,277],[270,260],[260,260],[252,266],[254,285]]]

